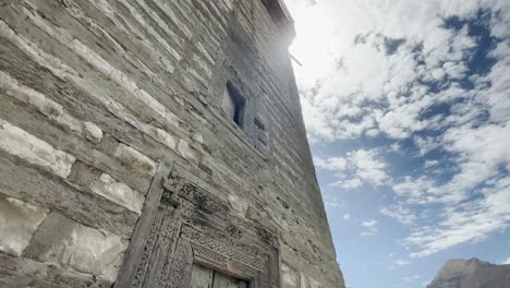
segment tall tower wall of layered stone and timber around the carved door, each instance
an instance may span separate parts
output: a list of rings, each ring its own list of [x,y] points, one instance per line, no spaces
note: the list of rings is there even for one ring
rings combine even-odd
[[[344,287],[288,32],[264,3],[0,0],[0,286],[110,286],[171,158],[276,227],[281,287]]]

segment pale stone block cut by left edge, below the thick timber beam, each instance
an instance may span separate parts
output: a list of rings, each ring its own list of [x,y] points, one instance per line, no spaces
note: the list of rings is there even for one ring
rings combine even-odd
[[[0,195],[0,251],[21,256],[48,209]]]

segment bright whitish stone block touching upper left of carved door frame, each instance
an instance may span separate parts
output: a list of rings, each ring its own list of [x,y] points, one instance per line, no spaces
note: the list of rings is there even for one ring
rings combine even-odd
[[[102,173],[99,179],[92,182],[90,190],[137,214],[142,213],[145,200],[144,195],[129,185],[116,181],[116,179],[107,173]]]

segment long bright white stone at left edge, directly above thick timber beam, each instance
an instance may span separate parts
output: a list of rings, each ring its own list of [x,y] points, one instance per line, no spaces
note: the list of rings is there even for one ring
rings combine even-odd
[[[65,152],[0,119],[0,148],[50,172],[66,178],[76,160]]]

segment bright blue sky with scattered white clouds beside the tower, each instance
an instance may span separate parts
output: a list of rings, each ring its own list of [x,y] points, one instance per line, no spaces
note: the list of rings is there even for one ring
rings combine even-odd
[[[510,1],[286,2],[348,287],[510,263]]]

